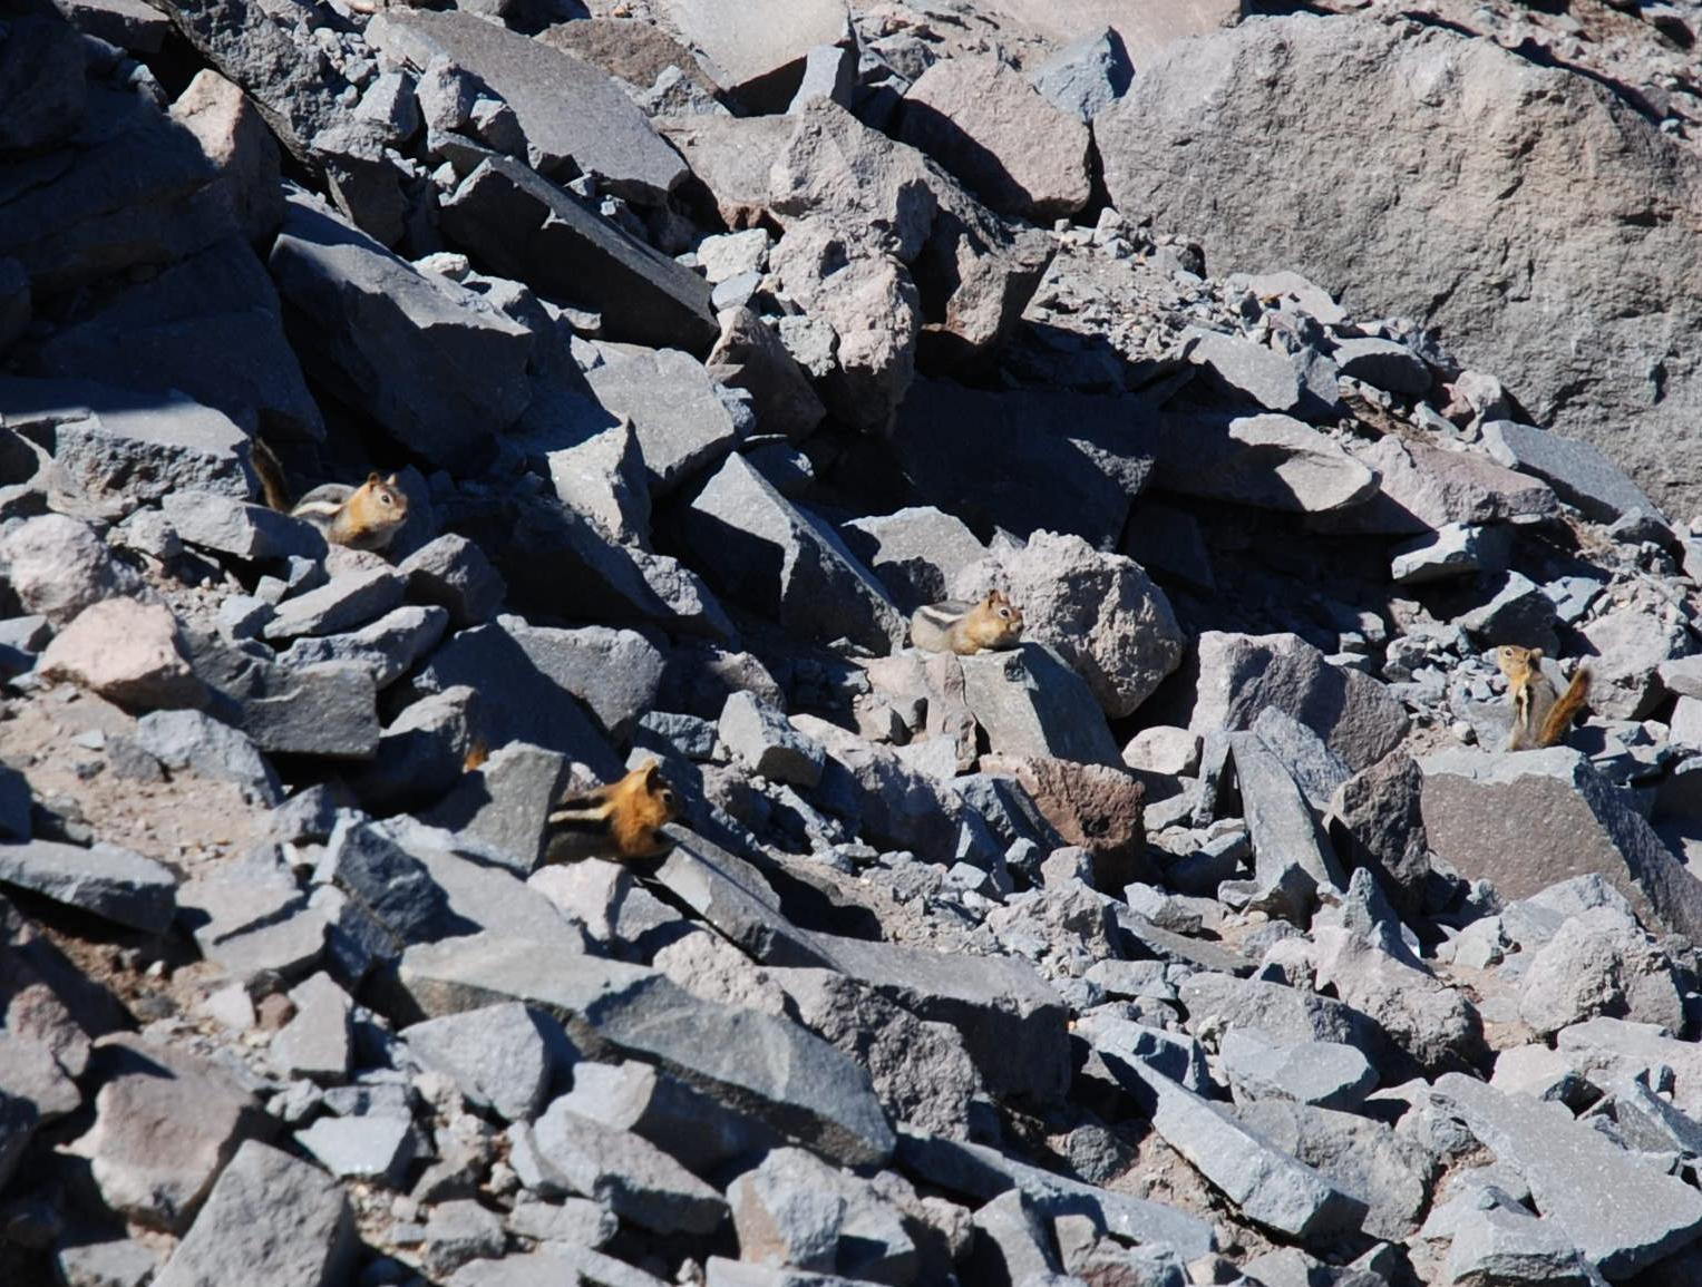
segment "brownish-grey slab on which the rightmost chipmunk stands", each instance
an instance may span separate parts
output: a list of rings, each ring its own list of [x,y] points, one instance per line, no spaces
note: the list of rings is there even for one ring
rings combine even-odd
[[[1644,923],[1702,933],[1702,882],[1578,751],[1442,751],[1419,768],[1430,848],[1467,880],[1528,899],[1596,873]]]

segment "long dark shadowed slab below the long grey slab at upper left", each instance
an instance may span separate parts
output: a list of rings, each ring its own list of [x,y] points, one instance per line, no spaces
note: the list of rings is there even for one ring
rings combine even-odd
[[[444,197],[443,230],[492,272],[597,310],[609,339],[708,352],[720,335],[703,277],[509,157]]]

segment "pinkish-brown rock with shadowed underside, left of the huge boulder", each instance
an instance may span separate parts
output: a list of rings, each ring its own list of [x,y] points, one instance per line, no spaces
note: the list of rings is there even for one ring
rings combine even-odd
[[[1088,204],[1088,126],[992,54],[928,68],[904,95],[899,136],[1001,214],[1043,223]]]

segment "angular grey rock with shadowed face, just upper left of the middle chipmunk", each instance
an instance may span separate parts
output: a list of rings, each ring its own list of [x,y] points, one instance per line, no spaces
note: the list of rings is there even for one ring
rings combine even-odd
[[[817,644],[849,638],[877,654],[902,645],[905,621],[875,574],[744,456],[728,456],[677,523],[718,591],[788,632]]]

